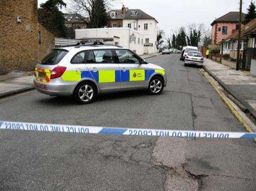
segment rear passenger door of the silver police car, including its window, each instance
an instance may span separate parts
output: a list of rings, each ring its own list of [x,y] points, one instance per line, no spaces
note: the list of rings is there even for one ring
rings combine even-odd
[[[120,69],[111,49],[88,51],[86,66],[98,83],[101,92],[112,92],[121,89]]]

